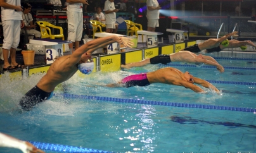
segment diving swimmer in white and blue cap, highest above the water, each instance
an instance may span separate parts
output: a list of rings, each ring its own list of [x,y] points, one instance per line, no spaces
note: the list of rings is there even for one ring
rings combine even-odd
[[[37,85],[22,97],[20,100],[22,109],[29,111],[37,103],[51,98],[55,87],[71,78],[77,70],[84,74],[91,73],[94,66],[94,63],[91,60],[91,54],[96,51],[96,49],[105,47],[113,42],[123,44],[125,47],[134,45],[134,43],[131,42],[131,39],[128,39],[127,37],[117,37],[112,35],[89,41],[76,49],[71,55],[61,56],[51,64],[46,75],[42,76]]]

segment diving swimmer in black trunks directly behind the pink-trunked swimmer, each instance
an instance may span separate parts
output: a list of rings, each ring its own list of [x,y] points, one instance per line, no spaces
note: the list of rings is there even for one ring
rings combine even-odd
[[[186,62],[186,63],[204,63],[208,65],[216,66],[217,70],[219,70],[221,73],[224,72],[224,68],[221,66],[221,64],[217,63],[214,58],[210,56],[205,56],[202,54],[196,55],[193,52],[189,51],[179,51],[176,53],[172,53],[170,55],[158,55],[153,58],[144,59],[143,61],[135,62],[135,63],[129,63],[129,64],[122,64],[121,68],[133,68],[133,67],[140,67],[145,66],[146,64],[167,64],[170,62]]]

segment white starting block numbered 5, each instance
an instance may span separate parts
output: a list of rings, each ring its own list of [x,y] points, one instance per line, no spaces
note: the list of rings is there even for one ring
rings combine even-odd
[[[138,30],[137,34],[148,36],[148,38],[146,40],[146,44],[147,44],[147,47],[150,48],[150,47],[158,46],[157,35],[162,35],[163,33],[161,33],[161,32],[150,32],[150,31],[146,31],[146,30]]]

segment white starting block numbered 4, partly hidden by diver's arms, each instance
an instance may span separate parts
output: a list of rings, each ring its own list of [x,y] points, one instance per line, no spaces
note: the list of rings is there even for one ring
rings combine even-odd
[[[126,35],[120,35],[120,34],[112,34],[112,33],[108,33],[108,32],[97,32],[94,34],[95,37],[108,37],[111,35],[116,35],[118,37],[126,37]],[[126,49],[126,47],[122,47],[120,46],[117,42],[114,42],[112,44],[109,44],[106,47],[107,51],[120,51],[122,49]]]

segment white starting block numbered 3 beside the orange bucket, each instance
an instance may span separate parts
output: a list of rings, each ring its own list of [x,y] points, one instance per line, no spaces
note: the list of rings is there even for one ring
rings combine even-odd
[[[70,44],[72,42],[60,39],[30,39],[29,43],[45,46],[46,64],[51,64],[54,62],[54,59],[63,56],[63,44]]]

